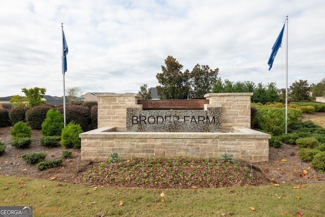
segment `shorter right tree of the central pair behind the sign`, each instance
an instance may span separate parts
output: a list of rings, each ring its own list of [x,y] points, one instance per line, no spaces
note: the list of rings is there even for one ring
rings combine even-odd
[[[190,73],[191,84],[190,98],[204,99],[204,95],[212,90],[213,84],[217,81],[219,69],[210,69],[208,65],[197,64]]]

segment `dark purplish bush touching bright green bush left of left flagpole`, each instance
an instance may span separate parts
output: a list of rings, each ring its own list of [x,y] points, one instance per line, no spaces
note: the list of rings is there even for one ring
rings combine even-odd
[[[46,118],[46,113],[50,106],[35,106],[26,111],[26,121],[28,126],[34,130],[41,130],[42,123]]]

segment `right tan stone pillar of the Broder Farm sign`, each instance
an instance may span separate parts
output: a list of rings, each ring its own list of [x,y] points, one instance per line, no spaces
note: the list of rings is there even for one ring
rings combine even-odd
[[[210,93],[204,97],[210,107],[221,104],[221,131],[230,132],[234,127],[250,129],[250,97],[252,92]]]

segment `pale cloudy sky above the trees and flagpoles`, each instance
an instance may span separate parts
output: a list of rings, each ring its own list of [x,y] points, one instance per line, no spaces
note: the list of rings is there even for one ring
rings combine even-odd
[[[288,15],[288,86],[325,77],[325,1],[320,0],[15,0],[0,8],[0,97],[44,87],[63,96],[61,23],[69,47],[66,88],[135,92],[158,85],[168,55],[190,71],[219,68],[231,81],[285,87],[285,38],[268,71],[271,48]]]

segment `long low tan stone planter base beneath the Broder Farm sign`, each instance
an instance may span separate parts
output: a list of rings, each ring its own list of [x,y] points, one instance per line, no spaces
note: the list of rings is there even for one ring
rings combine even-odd
[[[148,133],[114,132],[103,127],[79,135],[82,160],[109,159],[110,153],[121,157],[199,157],[219,158],[233,154],[234,159],[261,162],[269,160],[271,135],[248,128],[234,128],[231,133]]]

